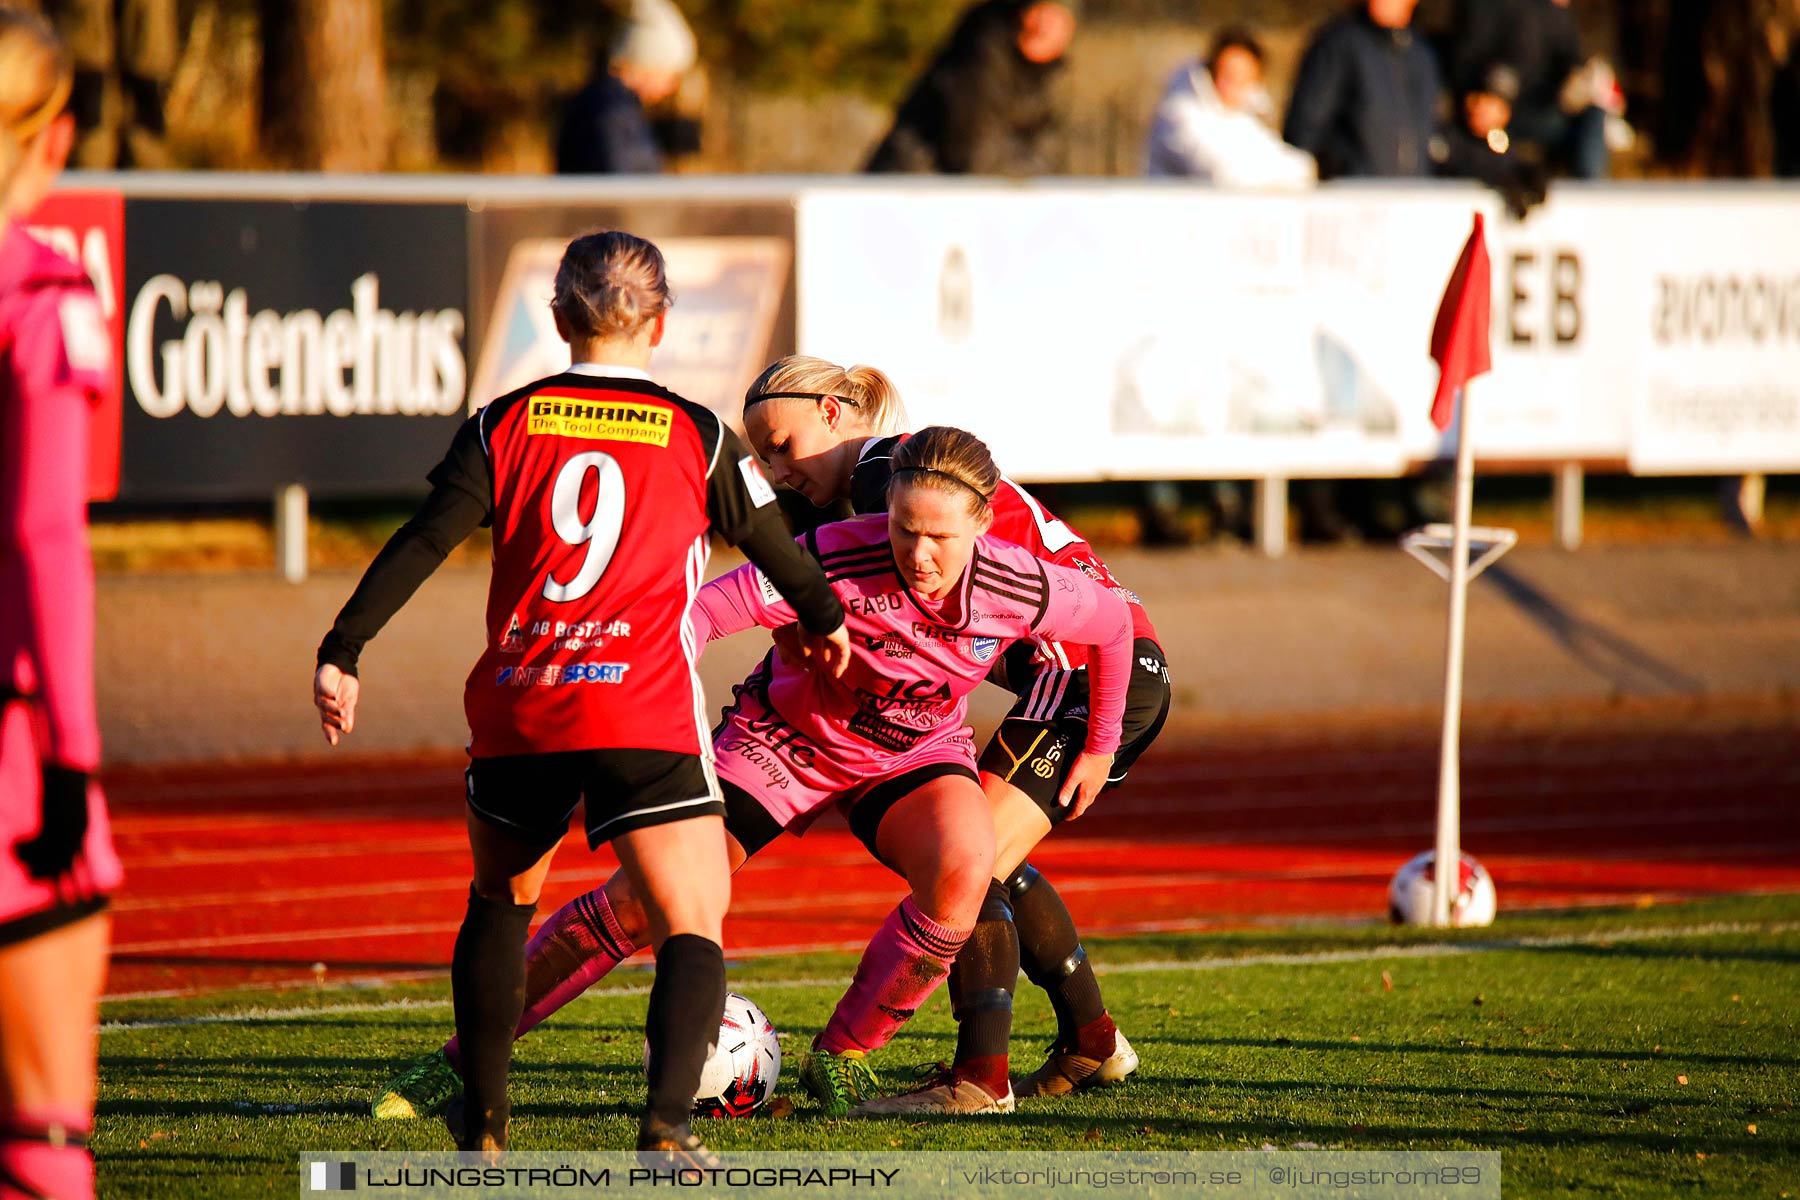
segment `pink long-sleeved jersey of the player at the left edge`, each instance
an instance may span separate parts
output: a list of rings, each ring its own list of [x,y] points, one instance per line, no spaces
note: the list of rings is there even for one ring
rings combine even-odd
[[[92,297],[74,293],[92,304]],[[99,766],[94,709],[94,563],[86,540],[88,372],[63,347],[70,293],[43,290],[14,309],[0,378],[0,606],[4,667],[23,651],[49,725],[47,754]],[[7,680],[13,682],[13,680]]]

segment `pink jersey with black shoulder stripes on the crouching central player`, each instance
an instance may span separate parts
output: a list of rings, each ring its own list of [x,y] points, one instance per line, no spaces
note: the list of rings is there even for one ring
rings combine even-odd
[[[857,516],[806,534],[844,604],[851,637],[841,678],[776,662],[769,705],[841,765],[886,770],[932,738],[965,734],[968,693],[1008,644],[1048,637],[1096,649],[1087,748],[1120,745],[1130,680],[1132,621],[1125,601],[1078,570],[981,536],[958,587],[941,601],[902,581],[887,518]],[[700,588],[695,631],[715,640],[752,624],[776,628],[794,612],[751,565]]]

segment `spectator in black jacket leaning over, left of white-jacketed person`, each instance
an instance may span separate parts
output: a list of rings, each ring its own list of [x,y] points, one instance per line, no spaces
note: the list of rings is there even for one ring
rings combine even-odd
[[[985,0],[963,14],[895,113],[869,171],[1049,175],[1062,166],[1053,83],[1073,0]]]

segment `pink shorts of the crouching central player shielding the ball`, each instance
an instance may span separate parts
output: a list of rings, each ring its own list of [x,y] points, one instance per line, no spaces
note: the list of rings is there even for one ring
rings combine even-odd
[[[895,775],[938,765],[967,766],[970,777],[976,775],[976,741],[961,725],[900,754],[871,754],[878,756],[878,763],[842,763],[801,736],[747,687],[738,693],[736,705],[725,712],[725,723],[713,738],[718,777],[749,792],[796,837],[832,804],[850,808]]]

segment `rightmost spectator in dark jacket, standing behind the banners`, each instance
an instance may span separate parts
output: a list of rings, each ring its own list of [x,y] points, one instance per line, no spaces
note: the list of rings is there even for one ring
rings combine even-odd
[[[1507,133],[1579,180],[1607,175],[1607,113],[1624,113],[1613,70],[1589,63],[1570,0],[1458,0],[1445,43],[1451,83],[1474,90],[1492,63],[1519,76]]]

